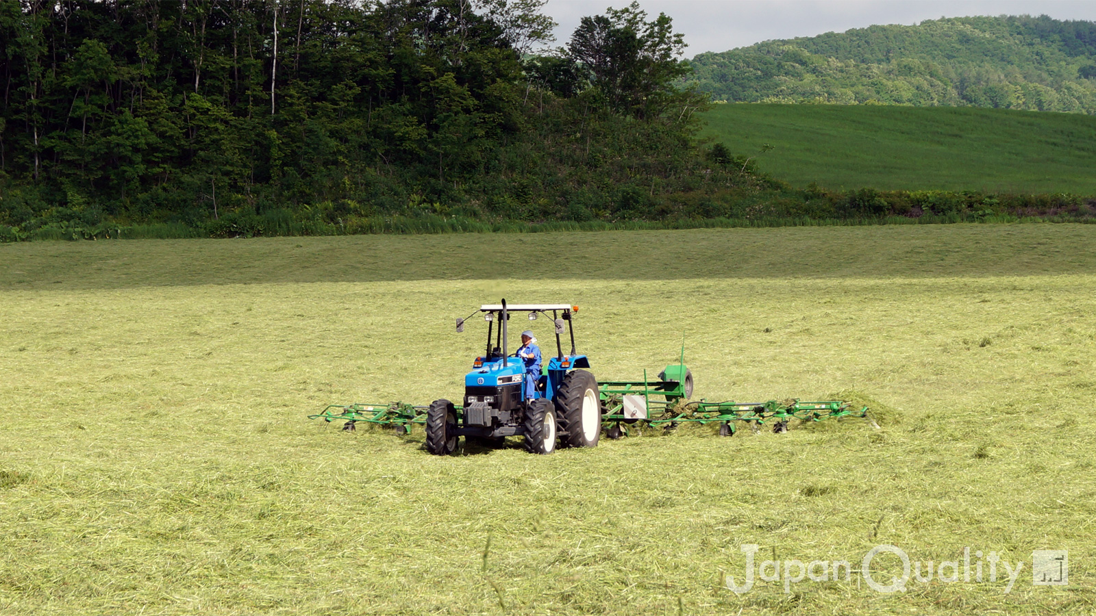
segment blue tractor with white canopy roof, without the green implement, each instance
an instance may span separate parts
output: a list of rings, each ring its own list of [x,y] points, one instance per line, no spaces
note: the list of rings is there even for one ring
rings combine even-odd
[[[426,411],[426,449],[434,455],[456,450],[460,436],[481,443],[501,443],[506,436],[523,436],[525,448],[535,454],[564,447],[594,447],[602,433],[602,404],[597,380],[587,369],[590,361],[574,349],[576,306],[564,304],[521,304],[481,306],[488,323],[487,351],[476,357],[465,375],[461,406],[434,400]],[[476,315],[472,312],[472,315]],[[513,315],[551,319],[556,332],[556,356],[548,361],[532,399],[524,393],[525,364],[507,352],[506,326]],[[463,332],[465,319],[457,319]],[[570,333],[571,351],[563,353],[560,336]],[[545,352],[547,355],[547,351]]]

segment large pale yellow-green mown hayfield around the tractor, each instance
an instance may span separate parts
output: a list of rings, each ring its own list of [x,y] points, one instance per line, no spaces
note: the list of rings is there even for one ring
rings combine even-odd
[[[1046,224],[0,246],[0,614],[1091,614],[1094,241]],[[660,368],[684,335],[696,397],[849,396],[881,430],[433,457],[421,432],[305,418],[459,396],[481,332],[453,320],[499,297],[578,304],[598,376]],[[1025,568],[1007,594],[854,577],[739,595],[721,584],[744,544]],[[1032,585],[1036,549],[1070,550],[1068,586]]]

